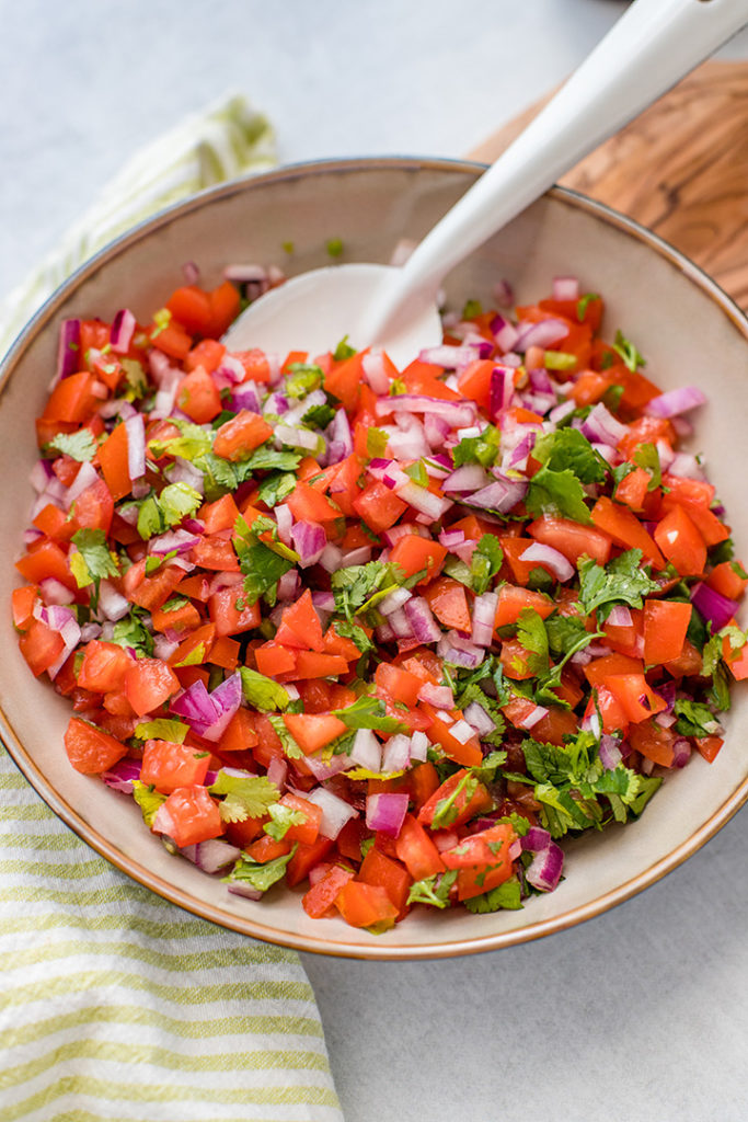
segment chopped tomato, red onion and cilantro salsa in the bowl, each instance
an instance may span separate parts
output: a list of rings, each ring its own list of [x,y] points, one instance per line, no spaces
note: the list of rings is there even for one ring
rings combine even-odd
[[[553,891],[560,842],[714,760],[748,677],[748,573],[680,447],[704,395],[573,277],[497,285],[397,369],[231,351],[281,278],[192,269],[149,322],[65,321],[36,423],[12,615],[72,766],[314,919]]]

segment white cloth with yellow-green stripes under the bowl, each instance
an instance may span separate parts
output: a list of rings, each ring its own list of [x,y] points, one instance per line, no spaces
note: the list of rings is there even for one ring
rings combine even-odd
[[[240,98],[136,156],[1,318],[183,195],[273,165]],[[4,347],[3,347],[4,349]],[[2,1122],[342,1122],[298,956],[182,911],[71,833],[0,749]]]

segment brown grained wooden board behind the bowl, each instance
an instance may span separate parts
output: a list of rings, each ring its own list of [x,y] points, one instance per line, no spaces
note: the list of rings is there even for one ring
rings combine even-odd
[[[548,98],[471,156],[495,160]],[[654,230],[748,311],[748,63],[704,63],[561,183]]]

